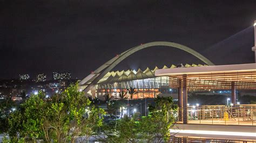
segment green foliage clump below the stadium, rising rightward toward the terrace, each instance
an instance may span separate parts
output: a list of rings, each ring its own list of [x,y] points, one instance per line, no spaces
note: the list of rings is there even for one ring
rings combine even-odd
[[[170,128],[176,123],[177,105],[172,97],[157,97],[155,105],[150,105],[149,115],[138,120],[135,114],[132,118],[124,116],[105,126],[107,142],[168,142]]]

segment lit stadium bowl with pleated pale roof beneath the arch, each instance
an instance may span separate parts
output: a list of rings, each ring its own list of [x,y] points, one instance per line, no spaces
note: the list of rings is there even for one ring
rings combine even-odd
[[[198,67],[207,65],[188,65],[185,67]],[[163,69],[177,68],[177,66],[164,66]],[[168,77],[157,77],[155,71],[159,69],[146,68],[145,70],[122,70],[110,71],[99,80],[91,90],[92,96],[103,96],[110,94],[113,97],[120,98],[119,92],[127,91],[129,88],[135,88],[136,94],[132,96],[133,99],[137,98],[154,98],[159,94],[175,94],[175,89],[169,88]],[[90,80],[88,81],[91,82]],[[128,94],[129,96],[129,94]],[[131,98],[131,97],[129,97]]]

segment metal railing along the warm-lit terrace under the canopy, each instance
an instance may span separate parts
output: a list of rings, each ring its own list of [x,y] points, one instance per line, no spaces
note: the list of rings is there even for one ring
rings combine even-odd
[[[187,112],[187,117],[184,112]],[[187,120],[187,124],[256,126],[256,106],[188,106],[179,108],[178,118],[178,123]]]

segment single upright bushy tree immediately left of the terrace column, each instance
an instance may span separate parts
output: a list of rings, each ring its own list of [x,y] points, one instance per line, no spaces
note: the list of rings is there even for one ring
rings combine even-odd
[[[171,137],[170,128],[176,122],[174,115],[177,113],[177,105],[172,97],[157,97],[154,106],[149,106],[149,116],[140,121],[140,132],[148,142],[168,141]],[[157,123],[157,124],[152,124]]]

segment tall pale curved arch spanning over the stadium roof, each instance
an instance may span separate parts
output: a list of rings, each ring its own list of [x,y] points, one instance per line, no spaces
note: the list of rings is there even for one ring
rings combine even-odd
[[[89,90],[92,89],[93,85],[97,84],[98,81],[105,74],[107,74],[114,67],[116,67],[119,62],[123,61],[125,58],[127,58],[131,54],[133,54],[133,53],[135,53],[135,52],[137,52],[137,51],[139,51],[141,49],[144,49],[144,48],[147,48],[147,47],[152,47],[152,46],[169,46],[169,47],[178,48],[178,49],[181,49],[183,51],[186,51],[186,52],[196,56],[198,59],[200,59],[201,61],[206,63],[206,65],[209,65],[209,66],[213,66],[214,65],[210,60],[205,58],[203,55],[199,54],[198,52],[194,51],[193,49],[191,49],[191,48],[189,48],[187,46],[180,45],[180,44],[177,44],[175,42],[167,42],[167,41],[149,42],[149,43],[146,43],[146,44],[143,44],[143,45],[139,45],[139,46],[130,48],[127,51],[125,51],[125,52],[115,56],[111,60],[109,60],[106,63],[104,63],[102,66],[100,66],[95,71],[93,71],[93,73],[91,73],[90,75],[86,76],[82,81],[79,82],[80,89],[83,90],[85,92],[85,94],[86,94]],[[90,83],[86,83],[89,80],[91,82]]]

